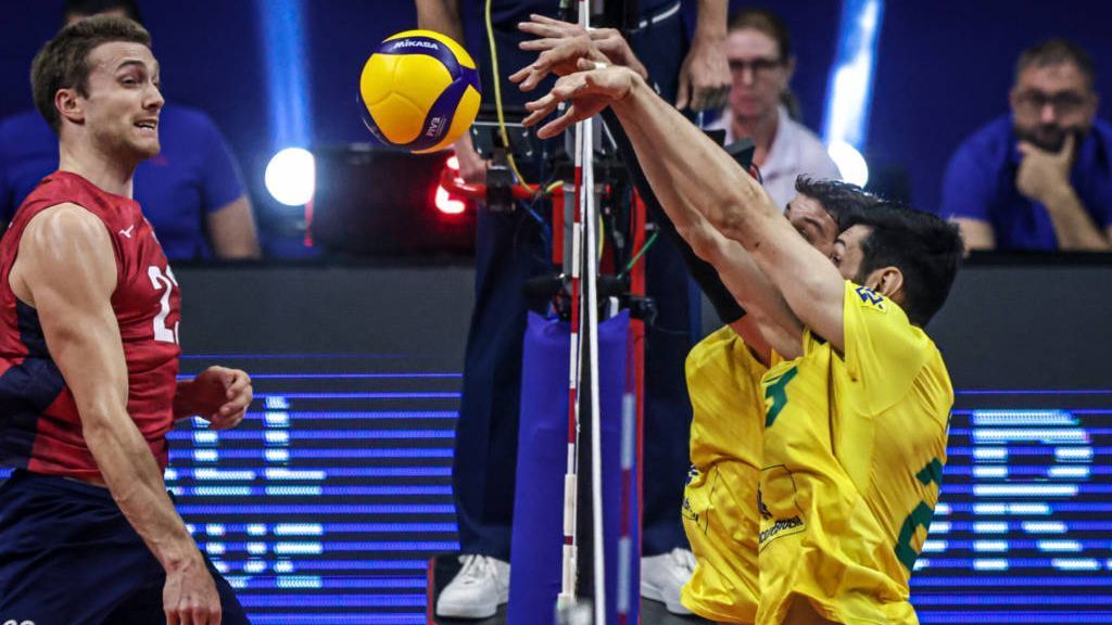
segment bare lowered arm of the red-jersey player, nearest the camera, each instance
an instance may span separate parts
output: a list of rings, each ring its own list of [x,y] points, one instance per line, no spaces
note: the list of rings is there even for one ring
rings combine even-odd
[[[220,623],[212,577],[127,411],[127,365],[111,306],[117,270],[103,224],[76,205],[43,210],[23,232],[9,281],[38,311],[112,498],[167,572],[168,622]]]

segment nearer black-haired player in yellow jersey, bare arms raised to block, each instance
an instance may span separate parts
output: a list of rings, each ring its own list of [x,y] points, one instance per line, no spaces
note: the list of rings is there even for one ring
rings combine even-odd
[[[527,122],[572,105],[538,136],[609,107],[677,230],[753,315],[752,345],[790,358],[762,380],[756,622],[917,623],[909,578],[937,499],[953,401],[921,328],[956,275],[956,228],[877,206],[824,258],[636,73],[582,42],[545,52],[529,71],[566,76],[528,105]]]

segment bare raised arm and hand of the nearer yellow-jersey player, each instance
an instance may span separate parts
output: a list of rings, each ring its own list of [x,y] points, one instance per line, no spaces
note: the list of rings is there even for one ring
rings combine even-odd
[[[554,136],[612,107],[653,188],[668,189],[674,201],[701,215],[726,238],[741,242],[798,319],[841,349],[842,276],[794,231],[764,189],[636,73],[586,59],[578,61],[578,68],[580,71],[560,78],[552,92],[528,105],[534,112],[527,121],[536,122],[559,102],[572,102],[537,135]]]

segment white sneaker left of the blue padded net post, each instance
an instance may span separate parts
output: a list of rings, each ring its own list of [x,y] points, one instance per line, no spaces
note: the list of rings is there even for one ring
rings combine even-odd
[[[489,618],[509,601],[509,563],[489,556],[459,556],[464,565],[436,599],[448,618]]]

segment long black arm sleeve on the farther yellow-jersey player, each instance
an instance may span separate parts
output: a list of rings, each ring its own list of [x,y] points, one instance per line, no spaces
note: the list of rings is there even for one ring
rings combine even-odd
[[[695,282],[698,284],[699,289],[711,300],[711,305],[714,306],[718,318],[723,324],[728,325],[744,317],[745,309],[737,304],[737,300],[734,299],[726,285],[722,282],[718,272],[709,262],[695,256],[695,251],[679,236],[676,227],[664,212],[661,201],[656,198],[652,185],[648,183],[645,172],[637,162],[637,155],[633,149],[633,143],[629,142],[625,130],[622,129],[622,123],[618,121],[617,116],[609,109],[606,109],[603,111],[603,120],[606,122],[606,128],[609,130],[610,136],[614,137],[614,142],[617,145],[622,161],[625,163],[626,169],[629,170],[629,176],[633,178],[634,186],[645,202],[649,217],[661,229],[661,236],[668,238],[676,246],[676,249],[679,250],[679,255],[683,256],[684,264],[687,266],[687,271],[691,272]]]

